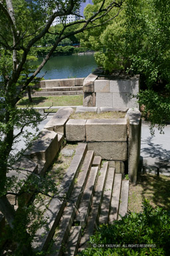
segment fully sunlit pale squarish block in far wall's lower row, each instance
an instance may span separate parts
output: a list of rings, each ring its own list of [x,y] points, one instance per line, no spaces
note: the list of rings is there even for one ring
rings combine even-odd
[[[113,107],[113,96],[110,92],[96,92],[96,106]]]

